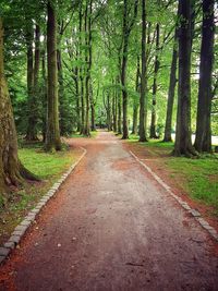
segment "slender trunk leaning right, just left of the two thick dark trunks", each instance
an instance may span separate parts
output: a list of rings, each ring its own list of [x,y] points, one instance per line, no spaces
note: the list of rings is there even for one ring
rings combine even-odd
[[[174,32],[174,44],[173,44],[172,61],[170,69],[170,84],[168,89],[167,116],[166,116],[164,142],[172,142],[171,130],[172,130],[172,110],[174,102],[174,90],[177,85],[177,62],[178,62],[178,27],[175,28]]]

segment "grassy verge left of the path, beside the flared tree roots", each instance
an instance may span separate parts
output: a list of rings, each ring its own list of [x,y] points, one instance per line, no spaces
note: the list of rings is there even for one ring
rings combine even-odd
[[[19,156],[25,167],[37,174],[41,182],[25,183],[22,189],[10,194],[4,207],[0,207],[0,244],[75,160],[71,150],[46,154],[40,143],[24,145],[19,150]]]

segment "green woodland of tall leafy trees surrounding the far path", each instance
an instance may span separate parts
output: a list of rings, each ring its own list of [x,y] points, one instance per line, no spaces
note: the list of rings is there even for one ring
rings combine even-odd
[[[61,136],[107,128],[173,136],[174,156],[217,150],[214,0],[1,0],[0,13],[1,191],[37,180],[21,140],[52,153]]]

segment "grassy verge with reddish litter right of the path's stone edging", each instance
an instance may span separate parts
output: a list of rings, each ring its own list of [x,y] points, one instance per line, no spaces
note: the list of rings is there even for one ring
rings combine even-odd
[[[138,143],[131,136],[129,143],[145,149],[145,158],[152,158],[150,166],[157,163],[168,177],[177,182],[191,198],[211,206],[218,216],[218,155],[202,155],[198,159],[172,157],[173,143],[150,141]]]

